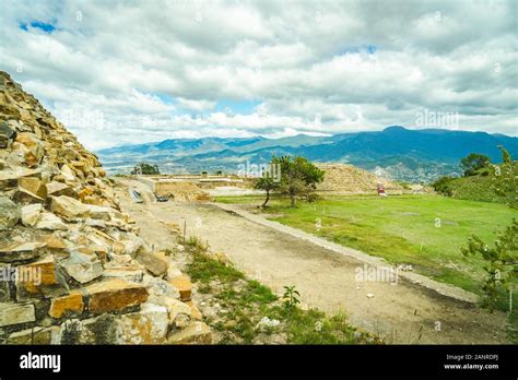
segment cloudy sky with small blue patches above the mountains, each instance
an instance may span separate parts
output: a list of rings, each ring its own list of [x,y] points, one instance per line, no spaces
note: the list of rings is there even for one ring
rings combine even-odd
[[[91,149],[391,124],[517,135],[517,10],[2,0],[0,70]]]

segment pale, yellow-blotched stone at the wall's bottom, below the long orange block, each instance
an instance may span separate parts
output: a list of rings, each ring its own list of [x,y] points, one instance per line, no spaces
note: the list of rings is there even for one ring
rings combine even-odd
[[[120,316],[117,320],[120,344],[165,343],[168,332],[167,309],[155,304],[142,304],[140,312]]]

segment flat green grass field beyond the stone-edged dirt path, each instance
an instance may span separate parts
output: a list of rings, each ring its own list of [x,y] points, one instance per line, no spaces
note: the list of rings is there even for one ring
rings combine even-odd
[[[258,197],[220,198],[225,203],[260,204]],[[267,213],[282,224],[337,244],[411,264],[414,271],[475,294],[482,294],[485,272],[479,258],[464,259],[460,247],[475,234],[493,244],[495,230],[510,224],[505,204],[457,200],[439,195],[332,197],[315,203],[274,199]],[[508,310],[509,296],[498,305]],[[518,297],[514,297],[517,305]]]

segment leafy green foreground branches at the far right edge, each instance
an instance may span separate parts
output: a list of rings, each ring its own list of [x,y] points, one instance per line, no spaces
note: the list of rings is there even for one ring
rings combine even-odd
[[[495,192],[504,197],[511,209],[518,209],[517,164],[509,153],[498,146],[503,164],[495,166],[493,180]],[[487,263],[484,270],[487,278],[483,285],[487,306],[493,309],[498,298],[498,289],[510,290],[509,286],[518,274],[518,222],[514,218],[511,225],[497,231],[497,239],[490,248],[478,236],[471,236],[468,246],[461,248],[464,257],[479,256]]]

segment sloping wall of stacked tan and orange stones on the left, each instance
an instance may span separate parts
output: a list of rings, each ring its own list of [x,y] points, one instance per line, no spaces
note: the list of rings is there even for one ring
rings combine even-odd
[[[0,342],[211,343],[191,296],[97,157],[0,71]]]

